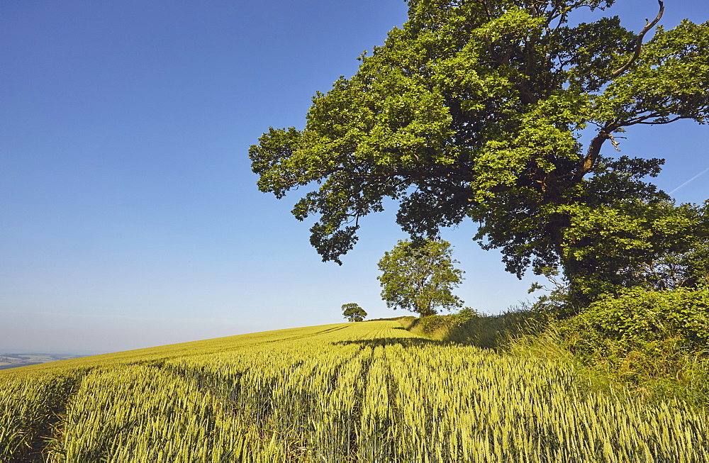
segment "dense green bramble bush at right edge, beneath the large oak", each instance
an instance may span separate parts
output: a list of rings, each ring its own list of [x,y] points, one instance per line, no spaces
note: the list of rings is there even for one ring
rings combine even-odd
[[[629,289],[591,303],[556,328],[577,359],[623,381],[707,389],[708,286]]]

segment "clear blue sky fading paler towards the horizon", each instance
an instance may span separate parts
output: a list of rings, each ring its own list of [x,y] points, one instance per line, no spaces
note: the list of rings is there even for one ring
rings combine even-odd
[[[657,2],[620,0],[640,30]],[[662,23],[709,19],[666,1]],[[364,220],[345,264],[322,263],[296,196],[260,193],[247,149],[301,127],[316,91],[356,72],[406,21],[401,0],[0,2],[0,352],[109,352],[342,321],[379,299],[376,262],[405,238]],[[709,167],[707,126],[628,133],[666,157],[670,191]],[[676,191],[709,197],[709,174]],[[503,272],[472,224],[444,233],[467,305],[497,313],[534,279]]]

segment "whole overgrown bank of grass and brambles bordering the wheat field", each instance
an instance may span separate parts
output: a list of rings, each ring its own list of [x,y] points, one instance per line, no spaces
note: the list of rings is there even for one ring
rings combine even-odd
[[[705,291],[645,291],[597,303],[572,317],[522,306],[496,316],[409,317],[402,323],[430,339],[562,362],[594,389],[709,408]],[[679,301],[667,303],[671,298]]]

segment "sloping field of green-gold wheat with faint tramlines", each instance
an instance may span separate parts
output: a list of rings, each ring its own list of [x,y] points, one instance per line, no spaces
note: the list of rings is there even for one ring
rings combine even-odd
[[[698,462],[709,420],[382,320],[4,370],[0,461]]]

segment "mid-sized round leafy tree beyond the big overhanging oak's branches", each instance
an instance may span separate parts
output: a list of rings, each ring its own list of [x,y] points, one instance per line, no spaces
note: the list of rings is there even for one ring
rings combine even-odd
[[[420,316],[434,315],[436,308],[462,307],[452,294],[462,281],[450,243],[443,240],[399,241],[379,261],[381,299],[389,308],[405,308]]]

